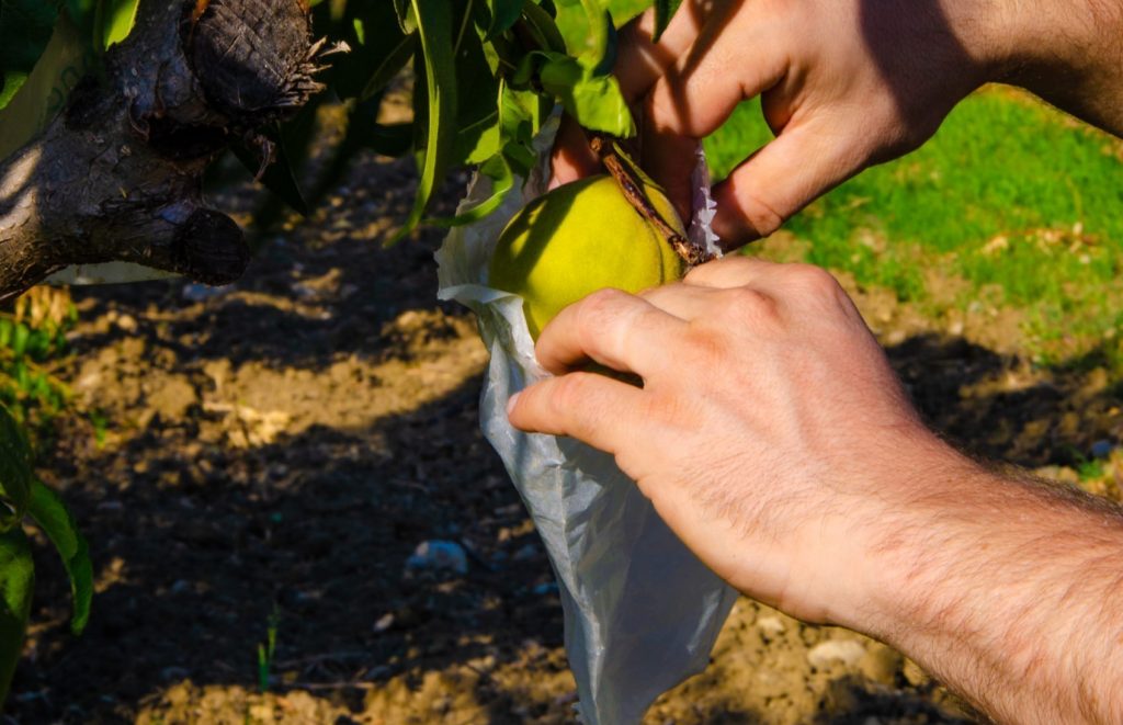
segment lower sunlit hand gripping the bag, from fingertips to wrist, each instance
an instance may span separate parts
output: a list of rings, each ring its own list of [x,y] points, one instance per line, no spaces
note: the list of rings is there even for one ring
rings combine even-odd
[[[558,377],[509,409],[523,430],[615,456],[676,534],[740,590],[868,628],[876,551],[964,461],[919,421],[825,272],[731,257],[640,296],[564,310],[536,352]],[[581,371],[593,360],[643,387]]]

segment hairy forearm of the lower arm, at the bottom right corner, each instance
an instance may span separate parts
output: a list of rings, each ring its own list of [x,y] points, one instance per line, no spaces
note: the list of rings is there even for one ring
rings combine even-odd
[[[878,634],[1001,722],[1123,722],[1119,510],[971,470],[883,540]]]

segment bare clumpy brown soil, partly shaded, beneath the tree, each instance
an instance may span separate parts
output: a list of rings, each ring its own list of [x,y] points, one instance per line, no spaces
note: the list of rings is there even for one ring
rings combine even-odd
[[[65,578],[39,548],[10,718],[573,722],[549,565],[478,429],[486,354],[466,311],[435,300],[440,233],[381,249],[413,184],[409,166],[364,159],[230,287],[74,291],[65,377],[86,413],[60,421],[40,474],[90,539],[98,594],[73,639]],[[843,283],[950,439],[1072,480],[1119,441],[1110,376],[1028,364],[1017,311],[986,295],[919,310]],[[1117,497],[1116,462],[1084,485]],[[408,569],[427,540],[463,547],[466,573]],[[742,599],[710,668],[646,722],[971,721],[889,648]]]

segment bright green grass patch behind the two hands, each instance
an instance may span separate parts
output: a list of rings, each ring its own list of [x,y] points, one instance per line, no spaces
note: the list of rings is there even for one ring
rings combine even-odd
[[[772,138],[758,102],[706,139],[715,176]],[[1040,361],[1110,362],[1123,323],[1123,144],[1046,105],[986,90],[917,152],[867,169],[793,218],[805,259],[923,302],[932,269],[1025,312]]]

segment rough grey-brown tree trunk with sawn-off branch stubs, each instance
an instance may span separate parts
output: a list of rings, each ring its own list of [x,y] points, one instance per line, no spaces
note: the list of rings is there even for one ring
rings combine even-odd
[[[71,264],[240,276],[248,249],[203,203],[202,173],[320,89],[317,47],[301,0],[141,0],[104,76],[0,162],[0,300]]]

